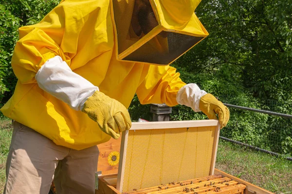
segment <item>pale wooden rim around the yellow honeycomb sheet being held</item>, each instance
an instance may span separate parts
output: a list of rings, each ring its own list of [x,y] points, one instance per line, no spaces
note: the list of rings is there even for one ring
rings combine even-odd
[[[219,131],[220,125],[218,120],[197,120],[197,121],[169,121],[169,122],[143,122],[143,123],[132,123],[131,130],[149,130],[149,129],[189,129],[197,128],[202,129],[202,127],[214,128],[214,139],[212,147],[212,158],[209,170],[209,175],[214,174],[217,147],[219,141]],[[125,164],[126,164],[126,153],[127,153],[127,143],[129,131],[126,130],[122,133],[121,149],[120,149],[120,162],[119,171],[117,178],[117,190],[122,193],[123,191],[123,181],[125,175]]]

